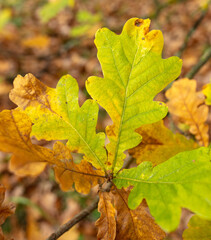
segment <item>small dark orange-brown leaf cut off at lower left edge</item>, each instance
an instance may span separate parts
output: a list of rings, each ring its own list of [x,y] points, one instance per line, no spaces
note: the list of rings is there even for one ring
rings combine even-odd
[[[5,187],[0,185],[0,226],[4,223],[5,219],[15,212],[15,205],[13,203],[4,204]],[[0,227],[0,239],[4,239],[2,229]]]

